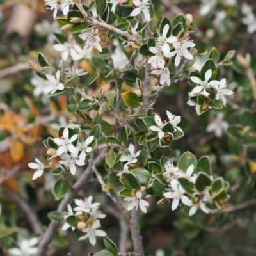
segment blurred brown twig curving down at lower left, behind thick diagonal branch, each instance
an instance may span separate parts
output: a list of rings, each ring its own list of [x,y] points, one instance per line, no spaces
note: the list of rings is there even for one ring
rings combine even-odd
[[[42,231],[42,225],[33,209],[29,206],[29,204],[24,200],[24,198],[21,195],[13,191],[8,191],[8,193],[13,198],[13,200],[19,205],[20,209],[24,212],[33,232],[40,233]]]

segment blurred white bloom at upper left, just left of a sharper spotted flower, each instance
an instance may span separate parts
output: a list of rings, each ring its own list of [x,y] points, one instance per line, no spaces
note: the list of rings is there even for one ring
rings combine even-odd
[[[53,45],[53,48],[60,52],[64,61],[68,60],[69,55],[72,60],[81,60],[88,56],[88,51],[84,51],[79,45],[72,45],[68,42],[65,42],[64,44],[55,44]]]

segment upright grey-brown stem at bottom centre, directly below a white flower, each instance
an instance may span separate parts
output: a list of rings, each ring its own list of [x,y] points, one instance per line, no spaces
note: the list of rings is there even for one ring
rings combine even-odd
[[[140,234],[140,211],[136,211],[136,209],[132,209],[130,229],[131,229],[134,252],[138,253],[138,255],[140,256],[144,256],[142,237]]]

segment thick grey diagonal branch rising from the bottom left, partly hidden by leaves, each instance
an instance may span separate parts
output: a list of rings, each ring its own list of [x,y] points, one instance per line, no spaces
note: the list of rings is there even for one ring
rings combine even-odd
[[[93,161],[93,164],[97,165],[100,164],[104,160],[104,156],[106,154],[106,151],[102,151],[100,155]],[[84,188],[84,185],[86,182],[88,182],[88,178],[90,177],[90,174],[92,172],[92,166],[89,165],[86,170],[83,172],[83,174],[79,177],[79,179],[76,181],[76,183],[72,186],[70,191],[67,193],[67,195],[64,196],[63,200],[61,201],[60,205],[58,206],[57,211],[63,212],[65,211],[68,202],[74,196],[76,196],[77,192]],[[43,256],[45,254],[45,251],[47,250],[47,246],[49,243],[51,243],[52,238],[54,237],[58,227],[60,226],[60,223],[57,221],[51,221],[49,224],[47,230],[44,233],[44,236],[40,240],[39,246],[38,246],[38,252],[36,253],[36,256]]]

